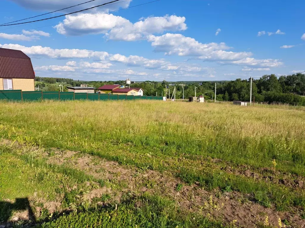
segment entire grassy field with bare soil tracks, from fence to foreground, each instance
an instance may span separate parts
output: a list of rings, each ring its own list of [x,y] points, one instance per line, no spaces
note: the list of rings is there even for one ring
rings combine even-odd
[[[12,208],[0,209],[0,221],[18,213],[15,199],[28,198],[43,227],[301,227],[304,111],[0,102],[0,201]]]

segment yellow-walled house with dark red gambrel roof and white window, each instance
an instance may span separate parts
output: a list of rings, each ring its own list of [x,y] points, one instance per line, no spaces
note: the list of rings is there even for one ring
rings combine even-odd
[[[20,50],[0,48],[0,90],[34,91],[34,78],[30,57]]]

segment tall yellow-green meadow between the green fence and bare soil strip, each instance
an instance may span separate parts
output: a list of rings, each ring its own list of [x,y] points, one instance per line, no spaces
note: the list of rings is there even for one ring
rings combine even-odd
[[[170,170],[189,183],[260,195],[263,205],[271,201],[278,209],[305,204],[302,192],[224,173],[205,160],[220,158],[305,176],[302,107],[161,101],[0,106],[5,138],[81,150],[143,169]]]

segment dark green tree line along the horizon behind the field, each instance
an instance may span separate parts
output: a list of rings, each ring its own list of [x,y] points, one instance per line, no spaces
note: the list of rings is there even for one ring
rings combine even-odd
[[[41,78],[36,77],[36,85],[45,90],[59,90],[55,83],[65,83],[71,86],[88,84],[99,88],[103,85],[125,85],[125,81],[74,81],[69,78]],[[43,84],[45,85],[43,85]],[[49,85],[48,85],[49,84]],[[144,95],[171,97],[176,88],[176,98],[188,98],[189,96],[203,95],[206,100],[214,98],[215,82],[213,81],[183,81],[183,82],[157,82],[143,81],[130,85],[131,88],[140,87]],[[169,94],[170,93],[170,94]],[[216,99],[218,101],[249,101],[250,100],[250,78],[235,81],[216,81]],[[293,74],[276,77],[274,74],[263,75],[260,79],[252,81],[252,100],[255,102],[280,102],[291,105],[305,105],[305,74]]]

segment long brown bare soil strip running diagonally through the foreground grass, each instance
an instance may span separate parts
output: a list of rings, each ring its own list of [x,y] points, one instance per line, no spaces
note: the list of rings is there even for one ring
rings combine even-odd
[[[298,212],[277,212],[274,207],[266,208],[247,200],[239,192],[208,192],[198,185],[185,185],[170,172],[139,170],[88,154],[54,151],[54,156],[48,156],[48,163],[67,164],[96,178],[108,180],[107,187],[94,189],[85,195],[88,200],[101,197],[105,193],[112,195],[112,199],[119,200],[124,193],[140,195],[149,192],[174,200],[183,210],[202,213],[225,223],[237,220],[236,224],[242,227],[256,227],[258,224],[264,224],[266,218],[274,227],[279,226],[279,218],[287,219],[292,227],[305,226],[305,220],[301,219]],[[252,172],[247,171],[242,175],[251,176]]]

